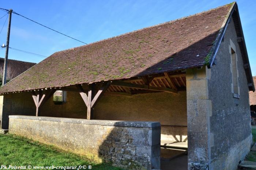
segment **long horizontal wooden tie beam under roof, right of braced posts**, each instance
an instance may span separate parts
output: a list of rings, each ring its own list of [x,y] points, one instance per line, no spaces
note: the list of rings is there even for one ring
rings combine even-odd
[[[121,86],[121,87],[129,87],[129,88],[139,88],[144,90],[154,90],[154,91],[165,91],[169,93],[177,93],[177,90],[171,89],[171,88],[165,88],[165,87],[153,87],[153,86],[147,86],[144,84],[133,84],[133,83],[127,83],[122,81],[113,81],[112,85],[114,86]]]

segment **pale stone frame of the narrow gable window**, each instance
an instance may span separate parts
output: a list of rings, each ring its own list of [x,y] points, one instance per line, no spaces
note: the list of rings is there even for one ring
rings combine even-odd
[[[237,68],[237,51],[236,51],[236,46],[235,44],[233,43],[233,41],[230,39],[230,44],[229,44],[229,54],[230,54],[230,72],[231,72],[231,77],[232,77],[232,83],[231,83],[231,92],[233,94],[233,97],[234,98],[240,98],[240,87],[239,87],[239,82],[238,82],[238,78],[239,78],[239,72],[238,72],[238,68]],[[236,58],[236,63],[235,63],[235,66],[236,66],[236,75],[237,76],[234,76],[233,74],[233,57]],[[237,90],[235,91],[234,90],[234,78],[236,78],[236,82],[237,82]]]

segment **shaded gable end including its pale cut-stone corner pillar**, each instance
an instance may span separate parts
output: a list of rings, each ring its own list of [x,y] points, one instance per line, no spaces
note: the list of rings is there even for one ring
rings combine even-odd
[[[236,49],[238,95],[234,95],[233,89],[231,47]],[[191,170],[236,170],[252,145],[249,89],[232,19],[215,63],[211,69],[187,70],[188,167]]]

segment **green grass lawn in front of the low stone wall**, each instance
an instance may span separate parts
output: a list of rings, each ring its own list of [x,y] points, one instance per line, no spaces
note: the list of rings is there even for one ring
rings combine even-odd
[[[97,164],[81,155],[65,152],[54,146],[44,145],[16,135],[0,135],[0,165],[12,166],[79,166],[91,165],[92,169],[121,170],[107,163]],[[88,168],[87,168],[88,169]]]

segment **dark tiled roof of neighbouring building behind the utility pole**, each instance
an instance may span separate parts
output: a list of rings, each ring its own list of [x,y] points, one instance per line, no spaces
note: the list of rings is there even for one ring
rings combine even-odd
[[[23,62],[19,60],[8,59],[7,67],[11,68],[12,78],[22,74],[24,71],[37,63]],[[4,58],[0,58],[0,67],[4,67]]]

